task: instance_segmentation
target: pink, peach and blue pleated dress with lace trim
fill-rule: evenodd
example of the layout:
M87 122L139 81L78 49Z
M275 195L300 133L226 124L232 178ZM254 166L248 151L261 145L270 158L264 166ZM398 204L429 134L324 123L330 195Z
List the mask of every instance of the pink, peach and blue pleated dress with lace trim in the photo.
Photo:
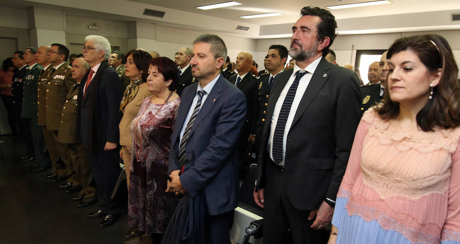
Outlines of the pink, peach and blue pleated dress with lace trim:
M460 127L397 134L371 108L332 224L340 243L460 243Z

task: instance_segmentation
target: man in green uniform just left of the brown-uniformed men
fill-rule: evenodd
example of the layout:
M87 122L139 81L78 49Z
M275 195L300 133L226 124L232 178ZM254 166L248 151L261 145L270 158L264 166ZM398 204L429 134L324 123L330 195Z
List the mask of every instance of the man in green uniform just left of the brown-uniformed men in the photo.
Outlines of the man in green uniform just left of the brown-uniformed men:
M35 160L38 167L48 169L51 168L51 161L45 153L43 133L37 123L37 83L38 78L43 71L43 67L37 63L37 60L35 59L36 53L36 48L29 47L26 48L24 55L22 55L24 61L29 65L29 70L26 72L22 82L23 94L21 118L25 119L29 123L32 143L35 150Z

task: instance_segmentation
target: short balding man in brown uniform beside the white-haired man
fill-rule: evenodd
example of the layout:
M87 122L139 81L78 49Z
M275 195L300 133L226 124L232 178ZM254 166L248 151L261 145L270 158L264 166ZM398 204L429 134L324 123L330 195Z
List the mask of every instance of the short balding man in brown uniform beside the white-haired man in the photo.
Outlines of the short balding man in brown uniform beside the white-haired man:
M76 79L77 83L68 92L65 99L58 134L58 141L65 145L73 165L74 180L72 186L68 187L66 192L80 191L77 197L72 198L74 201L80 201L79 208L86 207L97 200L96 188L89 186L91 167L86 156L86 149L81 144L81 139L76 132L78 87L80 86L81 78L89 68L89 64L83 58L77 58L73 62L72 78Z

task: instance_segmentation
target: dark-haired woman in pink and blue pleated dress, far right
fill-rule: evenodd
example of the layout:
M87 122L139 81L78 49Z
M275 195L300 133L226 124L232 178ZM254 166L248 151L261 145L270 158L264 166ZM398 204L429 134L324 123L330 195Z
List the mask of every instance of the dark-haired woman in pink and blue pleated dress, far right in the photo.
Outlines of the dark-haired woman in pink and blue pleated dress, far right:
M329 243L460 243L458 69L439 35L389 48L383 103L364 113Z

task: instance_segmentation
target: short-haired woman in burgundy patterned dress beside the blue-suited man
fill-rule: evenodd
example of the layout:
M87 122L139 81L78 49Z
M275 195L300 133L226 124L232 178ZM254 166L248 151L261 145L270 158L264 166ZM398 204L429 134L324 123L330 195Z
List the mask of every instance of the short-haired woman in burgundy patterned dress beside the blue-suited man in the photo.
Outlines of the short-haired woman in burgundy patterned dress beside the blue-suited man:
M131 122L128 226L138 227L131 237L145 233L152 236L154 243L159 243L177 204L175 195L165 192L170 137L180 103L174 92L177 80L174 61L154 58L147 77L148 90L153 95L144 100Z

